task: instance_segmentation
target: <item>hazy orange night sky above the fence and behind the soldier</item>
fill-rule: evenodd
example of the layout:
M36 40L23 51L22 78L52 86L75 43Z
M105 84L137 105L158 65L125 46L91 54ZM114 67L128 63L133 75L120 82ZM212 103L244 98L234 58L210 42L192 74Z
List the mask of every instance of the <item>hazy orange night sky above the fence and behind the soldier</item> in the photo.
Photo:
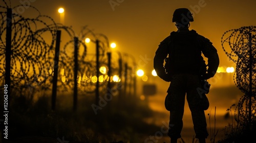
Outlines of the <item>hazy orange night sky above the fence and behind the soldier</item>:
M60 21L57 9L63 7L65 25L72 26L77 34L83 26L88 25L95 33L102 33L110 42L116 42L118 51L132 54L138 61L141 57L148 58L146 64L140 65L149 70L146 74L150 74L153 69L153 58L159 42L170 32L176 31L172 15L177 8L188 8L194 13L195 21L191 22L190 29L211 40L219 52L220 66L230 64L221 46L223 33L256 23L256 1L253 0L27 1L42 15L49 15L56 22ZM11 4L13 7L21 3L12 1ZM31 14L27 11L24 15Z

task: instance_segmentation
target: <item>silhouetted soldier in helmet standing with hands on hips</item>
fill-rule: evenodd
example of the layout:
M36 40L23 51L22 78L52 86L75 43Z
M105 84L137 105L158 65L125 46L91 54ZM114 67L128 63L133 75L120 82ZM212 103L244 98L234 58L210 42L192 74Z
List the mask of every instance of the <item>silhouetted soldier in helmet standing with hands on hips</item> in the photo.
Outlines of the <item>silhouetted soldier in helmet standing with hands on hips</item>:
M216 74L219 56L210 40L195 30L189 30L189 22L192 21L194 18L188 9L176 9L173 22L178 30L171 32L160 42L154 57L157 75L170 82L165 108L170 112L168 136L171 143L177 142L181 137L185 96L191 111L196 138L202 143L209 135L204 113L209 107L205 96L209 91L206 80ZM207 65L202 53L207 58Z

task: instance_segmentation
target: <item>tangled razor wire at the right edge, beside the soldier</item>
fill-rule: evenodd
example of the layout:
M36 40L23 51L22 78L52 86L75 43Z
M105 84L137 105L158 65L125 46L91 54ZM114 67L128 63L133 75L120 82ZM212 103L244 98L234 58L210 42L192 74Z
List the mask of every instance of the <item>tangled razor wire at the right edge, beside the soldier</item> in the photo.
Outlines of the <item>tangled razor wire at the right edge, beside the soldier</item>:
M221 38L228 58L236 63L235 85L245 93L236 107L236 121L256 121L256 27L248 26L226 31ZM251 55L250 55L251 53ZM250 67L251 65L251 67ZM251 82L250 82L251 74ZM251 91L250 91L251 87ZM250 102L249 102L250 101ZM251 116L249 116L251 114ZM248 125L248 124L247 124Z

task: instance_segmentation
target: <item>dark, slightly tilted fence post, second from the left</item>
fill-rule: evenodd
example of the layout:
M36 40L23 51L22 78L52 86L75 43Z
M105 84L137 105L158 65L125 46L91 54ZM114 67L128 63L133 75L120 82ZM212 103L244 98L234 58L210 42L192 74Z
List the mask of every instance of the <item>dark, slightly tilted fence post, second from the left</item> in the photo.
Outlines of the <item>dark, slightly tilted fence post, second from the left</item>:
M53 84L52 84L52 110L53 111L55 110L55 106L56 106L60 34L61 34L61 31L57 30L56 43L55 43L55 56L54 56Z

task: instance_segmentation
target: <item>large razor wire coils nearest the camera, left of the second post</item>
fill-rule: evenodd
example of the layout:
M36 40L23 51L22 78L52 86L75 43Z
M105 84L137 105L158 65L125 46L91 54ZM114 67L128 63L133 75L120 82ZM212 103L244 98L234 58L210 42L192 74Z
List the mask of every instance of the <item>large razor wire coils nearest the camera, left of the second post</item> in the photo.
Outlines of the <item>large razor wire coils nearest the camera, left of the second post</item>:
M31 8L38 11L36 8ZM14 7L15 8L15 7ZM39 11L38 11L39 13ZM1 12L1 43L0 43L0 56L1 56L1 75L5 75L5 27L7 12ZM11 84L14 90L29 86L33 87L31 81L35 81L35 75L44 75L41 83L48 79L49 72L46 71L46 65L50 64L48 60L53 55L53 44L56 39L56 26L49 25L42 19L49 19L54 23L54 20L46 15L39 15L36 18L25 18L19 14L12 13L12 53L11 53ZM37 25L42 25L44 28L39 29ZM54 27L53 27L54 26ZM51 37L50 44L46 42L43 34Z

